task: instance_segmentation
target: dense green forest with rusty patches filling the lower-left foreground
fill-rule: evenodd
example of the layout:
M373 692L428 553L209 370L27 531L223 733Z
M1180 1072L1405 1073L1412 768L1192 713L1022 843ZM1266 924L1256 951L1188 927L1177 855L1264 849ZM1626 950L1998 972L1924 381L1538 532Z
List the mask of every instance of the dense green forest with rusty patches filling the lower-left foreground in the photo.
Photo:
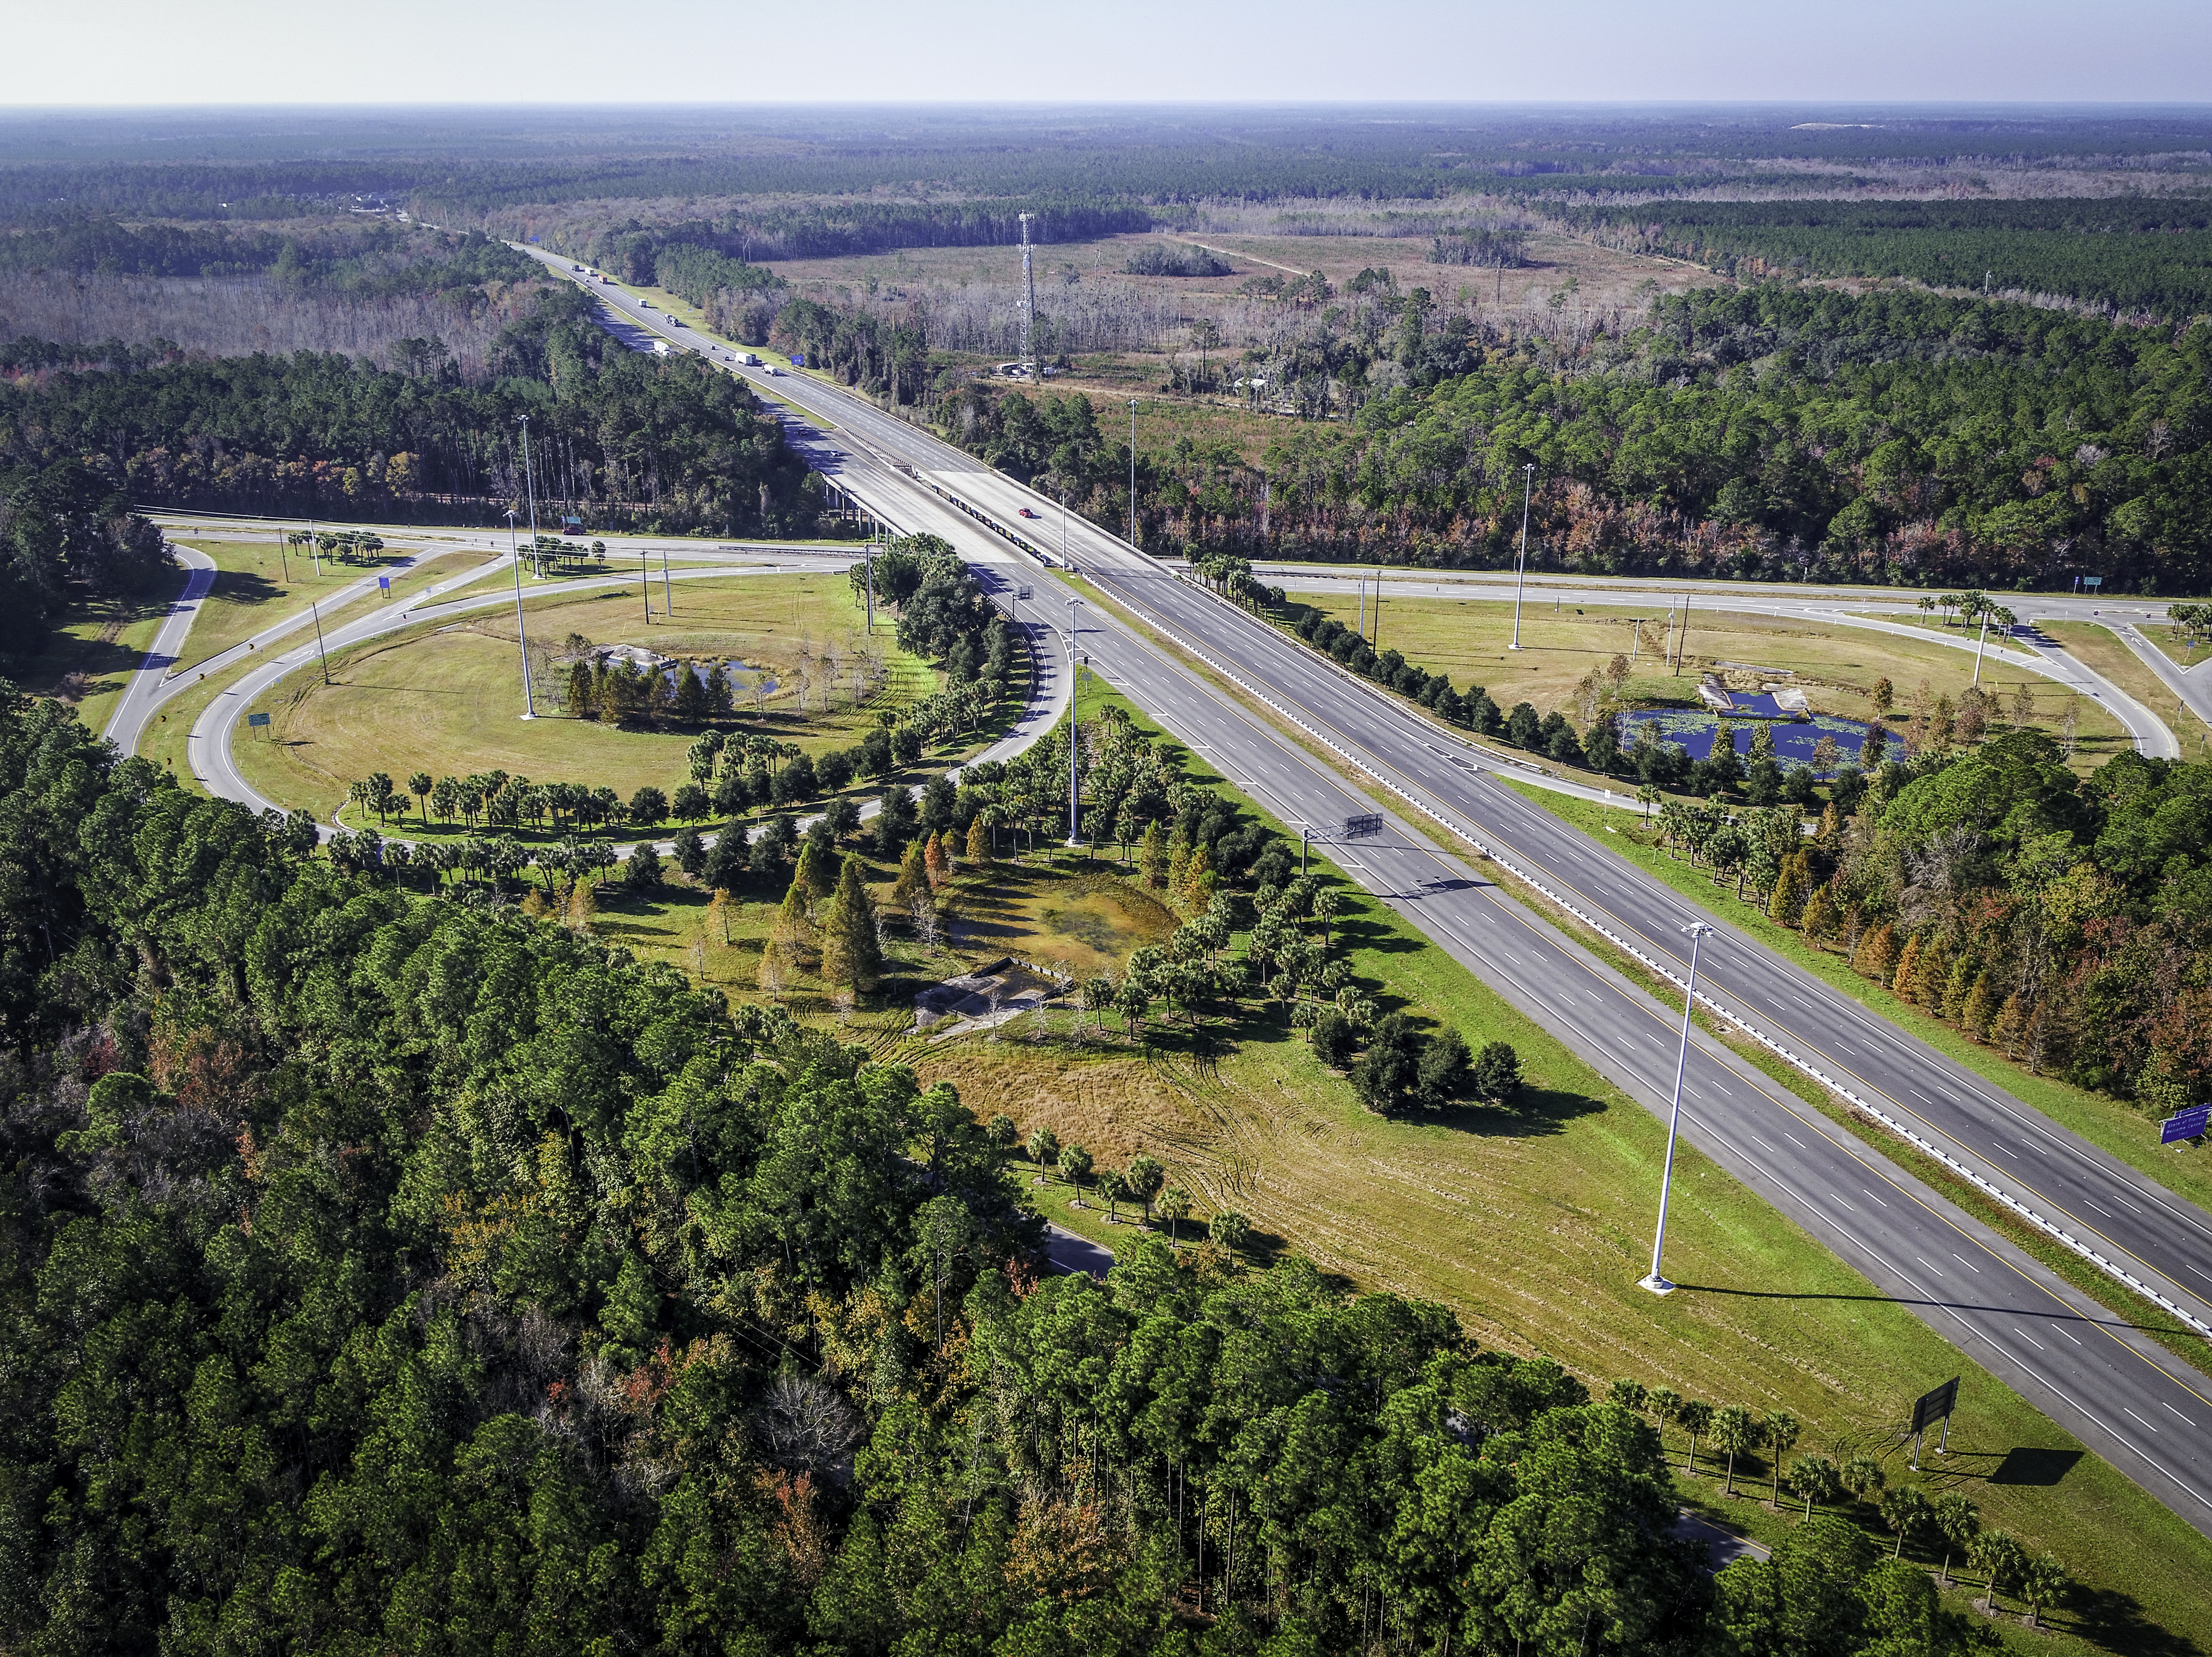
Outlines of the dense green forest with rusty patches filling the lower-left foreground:
M1040 1279L949 1086L51 704L0 783L9 1648L1962 1648L1856 1531L1714 1593L1641 1387L1298 1261Z

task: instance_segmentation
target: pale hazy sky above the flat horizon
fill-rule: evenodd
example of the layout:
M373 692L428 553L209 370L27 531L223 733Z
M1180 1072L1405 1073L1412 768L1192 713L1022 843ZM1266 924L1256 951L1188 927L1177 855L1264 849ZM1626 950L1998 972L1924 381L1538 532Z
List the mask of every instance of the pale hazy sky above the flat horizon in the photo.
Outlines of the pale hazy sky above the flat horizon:
M2212 0L102 0L9 104L2212 102Z

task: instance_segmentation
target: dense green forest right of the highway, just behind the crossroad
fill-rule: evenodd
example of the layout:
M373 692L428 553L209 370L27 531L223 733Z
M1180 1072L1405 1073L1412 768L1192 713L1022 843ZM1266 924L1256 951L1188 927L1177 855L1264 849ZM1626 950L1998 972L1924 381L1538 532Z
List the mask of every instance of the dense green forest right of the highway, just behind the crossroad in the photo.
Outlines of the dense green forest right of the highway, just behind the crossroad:
M1400 308L1409 383L1347 423L1290 427L1259 467L1188 440L1150 456L1146 538L1502 566L1535 465L1531 562L1548 569L2212 584L2208 323L1783 283L1659 299L1573 358L1451 321ZM1011 449L1018 394L973 396L984 411L951 405L947 429ZM1097 489L1082 498L1113 522Z

